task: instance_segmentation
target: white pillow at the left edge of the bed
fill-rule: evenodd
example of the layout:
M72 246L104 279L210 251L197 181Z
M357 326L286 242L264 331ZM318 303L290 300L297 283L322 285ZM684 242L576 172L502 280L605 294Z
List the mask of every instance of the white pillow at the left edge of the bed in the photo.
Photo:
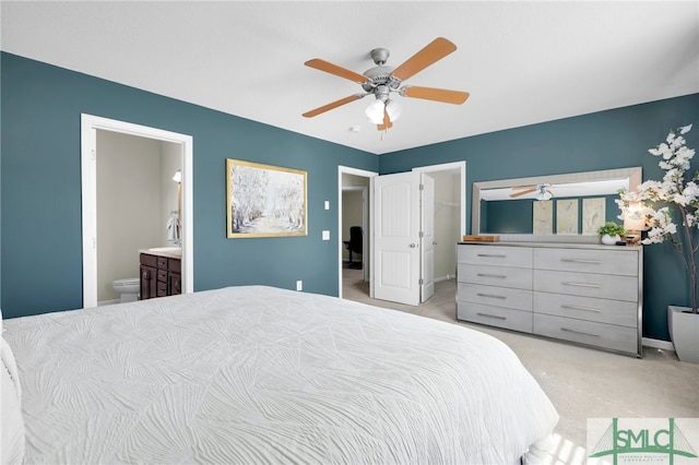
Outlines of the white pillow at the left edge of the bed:
M12 349L4 338L0 339L0 463L21 464L24 462L25 451L22 386Z

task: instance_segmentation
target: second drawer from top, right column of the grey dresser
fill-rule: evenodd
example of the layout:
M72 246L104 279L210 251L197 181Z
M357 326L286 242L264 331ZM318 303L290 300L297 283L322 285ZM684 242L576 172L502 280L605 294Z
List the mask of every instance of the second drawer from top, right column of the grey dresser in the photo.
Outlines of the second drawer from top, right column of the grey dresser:
M638 278L534 270L534 290L636 302L638 301Z

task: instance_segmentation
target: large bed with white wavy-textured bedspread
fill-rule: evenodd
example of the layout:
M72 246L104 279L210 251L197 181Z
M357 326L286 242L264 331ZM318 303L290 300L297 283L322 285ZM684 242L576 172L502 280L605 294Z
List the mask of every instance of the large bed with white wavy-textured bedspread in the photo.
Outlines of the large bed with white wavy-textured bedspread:
M268 286L16 318L2 335L8 462L510 464L558 420L491 336Z

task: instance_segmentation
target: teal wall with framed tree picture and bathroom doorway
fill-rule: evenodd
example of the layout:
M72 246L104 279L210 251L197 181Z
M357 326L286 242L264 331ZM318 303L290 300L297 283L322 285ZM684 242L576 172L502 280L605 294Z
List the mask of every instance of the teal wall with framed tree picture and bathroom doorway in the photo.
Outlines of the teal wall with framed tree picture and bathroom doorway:
M376 155L10 53L0 64L5 318L82 307L83 112L193 138L196 290L303 279L304 290L337 295L336 241L321 240L323 229L340 234L337 166L378 171ZM226 158L307 170L308 236L227 239Z

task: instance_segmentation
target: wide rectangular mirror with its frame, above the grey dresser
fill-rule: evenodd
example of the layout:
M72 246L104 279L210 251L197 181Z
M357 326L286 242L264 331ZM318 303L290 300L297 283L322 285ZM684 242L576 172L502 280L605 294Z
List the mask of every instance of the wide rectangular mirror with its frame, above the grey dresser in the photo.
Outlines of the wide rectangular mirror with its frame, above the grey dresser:
M474 182L471 230L500 240L597 241L599 226L620 223L618 190L640 183L640 167Z

